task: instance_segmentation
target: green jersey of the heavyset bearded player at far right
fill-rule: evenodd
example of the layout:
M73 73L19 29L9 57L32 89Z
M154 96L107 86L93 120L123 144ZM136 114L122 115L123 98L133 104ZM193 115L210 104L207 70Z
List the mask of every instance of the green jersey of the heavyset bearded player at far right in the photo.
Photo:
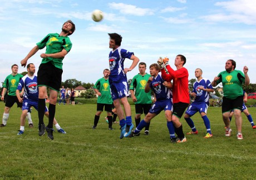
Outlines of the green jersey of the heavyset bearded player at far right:
M245 78L244 74L240 70L233 70L228 73L227 71L222 71L219 73L217 84L222 83L224 97L228 99L235 99L238 96L243 96L243 88Z

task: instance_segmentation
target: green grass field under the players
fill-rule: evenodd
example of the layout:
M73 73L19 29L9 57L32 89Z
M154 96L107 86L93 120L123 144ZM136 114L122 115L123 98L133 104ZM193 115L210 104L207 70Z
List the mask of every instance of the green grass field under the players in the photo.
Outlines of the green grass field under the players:
M15 105L16 106L16 105ZM67 132L55 132L55 140L38 136L34 128L18 136L21 110L12 107L6 127L0 128L0 179L255 179L256 130L243 114L244 140L237 140L234 118L232 136L225 137L220 107L209 107L213 138L199 114L193 116L198 135L185 143L170 143L164 113L151 121L150 135L119 139L119 125L108 130L102 112L92 130L96 104L57 105L56 119ZM132 116L135 115L135 107ZM1 116L4 103L0 102ZM256 121L255 107L249 108ZM45 119L47 125L48 120ZM184 133L190 128L182 118Z

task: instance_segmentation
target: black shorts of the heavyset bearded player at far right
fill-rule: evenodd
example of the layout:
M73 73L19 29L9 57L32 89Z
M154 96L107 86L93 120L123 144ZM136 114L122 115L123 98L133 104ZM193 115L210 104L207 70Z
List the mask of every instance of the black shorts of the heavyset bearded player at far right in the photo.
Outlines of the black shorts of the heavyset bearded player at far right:
M243 96L238 96L235 99L228 99L227 97L223 97L222 101L222 113L232 111L234 109L238 109L242 111L243 109L243 102L244 102Z

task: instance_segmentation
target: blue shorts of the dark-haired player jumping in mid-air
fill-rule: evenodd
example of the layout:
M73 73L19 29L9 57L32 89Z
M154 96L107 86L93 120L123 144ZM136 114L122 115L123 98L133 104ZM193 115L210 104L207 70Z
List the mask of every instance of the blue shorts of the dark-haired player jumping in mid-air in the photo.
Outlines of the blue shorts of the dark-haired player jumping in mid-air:
M112 100L121 99L122 97L129 96L129 85L127 81L112 82L110 84L110 92Z

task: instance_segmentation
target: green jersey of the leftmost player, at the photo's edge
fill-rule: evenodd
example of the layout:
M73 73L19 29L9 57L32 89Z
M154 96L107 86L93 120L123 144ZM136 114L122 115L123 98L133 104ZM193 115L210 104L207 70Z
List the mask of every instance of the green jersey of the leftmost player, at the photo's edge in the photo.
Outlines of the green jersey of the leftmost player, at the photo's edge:
M9 96L16 96L16 90L19 85L19 81L22 79L23 75L16 74L16 75L8 75L6 77L6 80L4 80L3 88L6 88L8 90Z

